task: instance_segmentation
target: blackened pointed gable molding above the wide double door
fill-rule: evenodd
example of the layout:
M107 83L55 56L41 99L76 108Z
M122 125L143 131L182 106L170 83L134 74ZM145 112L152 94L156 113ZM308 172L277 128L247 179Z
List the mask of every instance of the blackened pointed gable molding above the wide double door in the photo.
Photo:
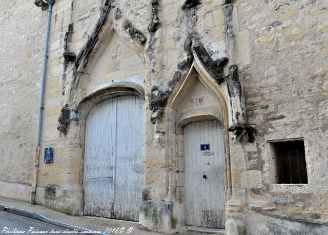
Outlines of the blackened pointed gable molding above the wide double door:
M122 17L117 20L113 11L111 11L112 8L114 7L106 4L100 8L100 15L91 35L79 50L76 59L66 66L65 104L76 106L76 101L83 99L82 93L88 83L89 75L114 35L117 35L121 42L130 47L139 56L142 64L146 64L146 58L142 53L144 45L131 38L129 30L125 29L127 19ZM129 26L133 27L132 25Z

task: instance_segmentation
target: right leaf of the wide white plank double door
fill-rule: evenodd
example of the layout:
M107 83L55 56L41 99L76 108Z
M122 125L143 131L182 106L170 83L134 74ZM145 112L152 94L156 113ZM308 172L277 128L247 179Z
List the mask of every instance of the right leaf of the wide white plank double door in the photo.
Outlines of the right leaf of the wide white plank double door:
M139 221L144 185L144 102L138 96L117 98L115 218Z

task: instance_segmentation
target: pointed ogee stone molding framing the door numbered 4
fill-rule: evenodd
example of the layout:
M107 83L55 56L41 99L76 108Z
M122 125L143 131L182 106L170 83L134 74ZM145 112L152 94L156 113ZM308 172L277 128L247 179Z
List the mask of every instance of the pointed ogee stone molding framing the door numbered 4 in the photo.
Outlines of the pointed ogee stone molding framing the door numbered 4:
M190 89L195 86L195 83L200 82L201 85L206 88L217 100L217 103L221 110L221 115L214 114L213 112L195 112L190 113L190 115L181 116L181 118L176 119L176 114L179 110L180 105L182 104L185 97L189 94ZM176 139L181 139L179 135L183 135L183 127L188 125L191 122L195 121L204 121L204 120L218 120L222 124L223 129L223 146L224 146L224 158L225 164L224 169L226 173L226 202L227 196L232 194L232 176L231 176L231 164L230 164L230 138L228 128L230 126L230 107L229 107L229 94L224 89L226 87L225 82L223 84L218 84L216 81L209 75L209 73L204 69L202 64L197 60L197 56L194 55L193 64L189 70L189 73L185 76L182 76L181 80L177 84L174 89L172 96L168 102L168 106L166 109L166 120L167 128L168 128L168 136L175 136ZM170 120L169 120L170 119ZM174 122L174 124L170 124ZM173 129L174 128L174 129ZM169 139L167 139L167 143L169 143ZM167 145L168 146L168 145ZM167 149L169 162L173 157L170 154L169 149ZM169 185L169 188L174 187L174 185Z

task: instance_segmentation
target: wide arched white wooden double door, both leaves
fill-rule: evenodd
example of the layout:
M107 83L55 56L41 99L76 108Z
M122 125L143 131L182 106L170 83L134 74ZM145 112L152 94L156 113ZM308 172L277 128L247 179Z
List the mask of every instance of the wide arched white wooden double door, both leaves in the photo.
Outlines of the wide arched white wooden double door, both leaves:
M144 184L144 101L127 95L101 102L86 121L84 213L139 220Z

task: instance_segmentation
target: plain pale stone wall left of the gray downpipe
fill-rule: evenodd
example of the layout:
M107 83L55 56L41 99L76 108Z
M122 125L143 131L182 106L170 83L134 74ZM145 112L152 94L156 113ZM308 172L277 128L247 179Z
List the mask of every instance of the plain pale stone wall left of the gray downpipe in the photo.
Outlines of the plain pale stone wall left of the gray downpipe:
M46 12L24 1L0 5L0 196L29 201Z

